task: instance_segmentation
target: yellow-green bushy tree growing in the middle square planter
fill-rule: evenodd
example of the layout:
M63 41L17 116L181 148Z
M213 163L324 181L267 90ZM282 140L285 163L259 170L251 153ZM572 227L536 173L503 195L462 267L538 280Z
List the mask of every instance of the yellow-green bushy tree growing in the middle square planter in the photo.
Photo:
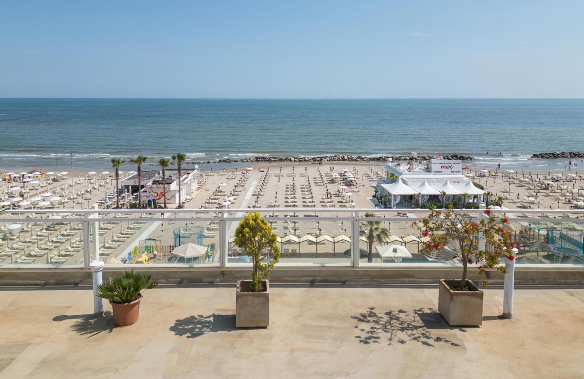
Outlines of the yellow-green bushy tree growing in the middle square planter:
M270 277L270 271L280 260L276 233L272 233L269 223L258 212L249 212L235 229L235 246L243 249L243 254L251 258L253 269L249 287L252 291L260 292L262 280ZM270 254L272 259L262 263Z

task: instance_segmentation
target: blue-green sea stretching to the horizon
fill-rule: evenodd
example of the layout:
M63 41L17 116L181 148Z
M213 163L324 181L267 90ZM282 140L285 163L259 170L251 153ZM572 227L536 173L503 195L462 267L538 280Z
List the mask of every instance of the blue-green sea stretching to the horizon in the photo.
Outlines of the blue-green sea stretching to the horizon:
M583 142L584 99L0 99L0 168L463 153L477 168L555 171L568 160L531 154Z

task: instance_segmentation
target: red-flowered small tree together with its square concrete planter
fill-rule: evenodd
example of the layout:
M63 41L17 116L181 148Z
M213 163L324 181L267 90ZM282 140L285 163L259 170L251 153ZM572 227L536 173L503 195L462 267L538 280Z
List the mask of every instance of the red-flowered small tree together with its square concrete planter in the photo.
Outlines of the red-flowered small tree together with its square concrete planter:
M476 264L479 274L493 268L505 274L500 260L514 259L510 235L503 228L509 219L496 220L491 209L485 209L484 215L472 219L468 213L452 208L444 211L432 208L426 218L414 223L426 237L420 250L422 256L440 257L440 251L449 246L455 251L453 259L458 258L463 264L460 280L440 280L438 311L450 325L482 324L483 292L467 279L468 265ZM482 284L486 285L487 280Z

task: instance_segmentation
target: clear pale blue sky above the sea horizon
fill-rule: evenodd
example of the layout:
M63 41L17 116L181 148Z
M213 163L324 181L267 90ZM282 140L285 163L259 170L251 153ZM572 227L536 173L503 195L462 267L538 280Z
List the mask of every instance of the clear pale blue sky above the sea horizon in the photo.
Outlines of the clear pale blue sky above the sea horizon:
M583 98L584 2L3 1L0 97Z

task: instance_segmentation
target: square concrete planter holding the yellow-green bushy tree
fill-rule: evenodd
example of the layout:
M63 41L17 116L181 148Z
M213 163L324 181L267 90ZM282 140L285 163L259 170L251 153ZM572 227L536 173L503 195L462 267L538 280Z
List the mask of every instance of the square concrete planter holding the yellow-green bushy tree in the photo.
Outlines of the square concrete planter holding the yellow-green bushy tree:
M237 282L235 292L235 327L259 328L270 323L270 283L262 280L263 291L252 292L251 280Z

